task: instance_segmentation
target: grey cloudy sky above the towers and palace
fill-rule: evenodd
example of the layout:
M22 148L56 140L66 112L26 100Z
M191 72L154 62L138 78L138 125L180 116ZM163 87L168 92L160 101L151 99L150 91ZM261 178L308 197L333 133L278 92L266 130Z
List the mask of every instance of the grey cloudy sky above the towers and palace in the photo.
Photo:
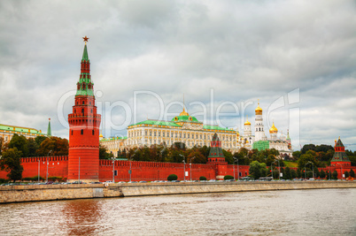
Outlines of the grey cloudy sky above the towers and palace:
M104 136L182 111L356 149L355 1L1 1L0 124L68 136L84 43ZM266 133L269 135L268 133Z

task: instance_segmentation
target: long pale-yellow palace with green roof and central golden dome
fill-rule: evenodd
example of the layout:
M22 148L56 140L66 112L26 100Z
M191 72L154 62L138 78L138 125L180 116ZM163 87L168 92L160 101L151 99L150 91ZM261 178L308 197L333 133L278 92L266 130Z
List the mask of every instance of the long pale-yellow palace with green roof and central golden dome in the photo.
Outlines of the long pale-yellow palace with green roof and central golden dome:
M238 131L220 126L208 126L183 109L179 116L171 121L145 120L128 126L128 137L104 139L100 135L100 144L118 156L124 148L136 148L144 145L163 144L171 146L174 142L182 142L187 148L194 146L210 147L213 134L217 133L221 140L221 148L237 150L240 148Z

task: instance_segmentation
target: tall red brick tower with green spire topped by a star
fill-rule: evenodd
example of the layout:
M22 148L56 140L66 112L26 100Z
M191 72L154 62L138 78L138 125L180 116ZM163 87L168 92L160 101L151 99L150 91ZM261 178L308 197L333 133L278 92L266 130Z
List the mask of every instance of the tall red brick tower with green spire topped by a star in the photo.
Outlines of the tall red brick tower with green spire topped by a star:
M87 36L81 58L81 76L73 113L68 115L69 154L68 180L99 179L99 126L101 116L95 105L94 83L90 76L90 62L87 51Z

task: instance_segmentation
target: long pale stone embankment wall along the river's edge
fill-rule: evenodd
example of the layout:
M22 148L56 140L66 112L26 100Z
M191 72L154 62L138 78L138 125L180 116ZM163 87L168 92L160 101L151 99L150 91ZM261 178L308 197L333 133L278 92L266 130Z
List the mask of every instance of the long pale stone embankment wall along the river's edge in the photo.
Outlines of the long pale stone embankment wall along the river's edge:
M110 184L106 187L104 184L1 186L0 203L164 194L205 194L354 187L356 187L356 181L126 183Z

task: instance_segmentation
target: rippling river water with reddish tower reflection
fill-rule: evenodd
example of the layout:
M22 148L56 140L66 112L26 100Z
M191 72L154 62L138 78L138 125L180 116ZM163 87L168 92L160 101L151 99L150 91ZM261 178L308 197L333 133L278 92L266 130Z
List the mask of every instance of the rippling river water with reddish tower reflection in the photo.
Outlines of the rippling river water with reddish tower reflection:
M356 189L0 205L1 235L356 235Z

